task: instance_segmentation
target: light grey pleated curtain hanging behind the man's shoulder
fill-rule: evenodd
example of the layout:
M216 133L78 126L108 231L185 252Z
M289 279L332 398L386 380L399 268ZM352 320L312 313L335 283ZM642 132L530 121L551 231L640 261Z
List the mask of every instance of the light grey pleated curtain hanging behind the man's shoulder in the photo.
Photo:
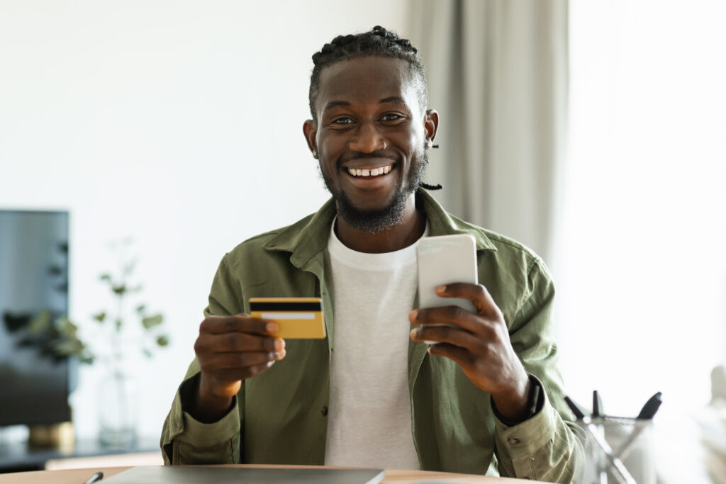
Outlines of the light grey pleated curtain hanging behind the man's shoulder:
M552 255L566 147L566 0L412 0L441 128L426 180L452 213Z

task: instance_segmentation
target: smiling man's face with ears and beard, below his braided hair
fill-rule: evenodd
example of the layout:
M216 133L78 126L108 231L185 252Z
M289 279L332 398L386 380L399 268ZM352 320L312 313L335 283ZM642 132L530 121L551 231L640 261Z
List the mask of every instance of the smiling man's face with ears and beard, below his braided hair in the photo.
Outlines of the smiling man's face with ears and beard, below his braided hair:
M318 118L306 122L305 133L339 216L361 231L393 226L413 202L426 138L436 132L407 62L337 62L322 71L318 92Z

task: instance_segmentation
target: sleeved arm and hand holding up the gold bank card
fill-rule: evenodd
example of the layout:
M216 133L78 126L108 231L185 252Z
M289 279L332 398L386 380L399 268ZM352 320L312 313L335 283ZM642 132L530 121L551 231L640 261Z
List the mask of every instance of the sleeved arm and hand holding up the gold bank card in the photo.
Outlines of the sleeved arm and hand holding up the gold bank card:
M241 290L223 259L212 284L205 320L195 343L197 358L176 392L164 422L166 464L238 464L243 380L285 356L285 343L269 321L242 311Z

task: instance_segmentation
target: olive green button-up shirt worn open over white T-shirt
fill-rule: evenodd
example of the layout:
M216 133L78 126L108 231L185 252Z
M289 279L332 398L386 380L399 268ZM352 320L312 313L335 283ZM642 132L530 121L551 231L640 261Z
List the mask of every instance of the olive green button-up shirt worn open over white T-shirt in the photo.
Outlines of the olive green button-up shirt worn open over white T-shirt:
M576 482L584 467L584 435L568 422L552 335L555 289L542 259L518 242L450 216L426 192L417 193L417 205L425 210L431 236L475 237L479 282L504 314L526 372L544 388L541 409L509 427L494 414L489 393L460 366L409 340L411 432L421 469ZM249 313L250 298L316 296L322 298L327 337L287 340L285 358L245 380L233 408L211 424L184 411L199 372L192 361L164 422L167 464L325 464L335 332L327 238L335 213L329 200L314 215L242 242L224 256L205 316Z

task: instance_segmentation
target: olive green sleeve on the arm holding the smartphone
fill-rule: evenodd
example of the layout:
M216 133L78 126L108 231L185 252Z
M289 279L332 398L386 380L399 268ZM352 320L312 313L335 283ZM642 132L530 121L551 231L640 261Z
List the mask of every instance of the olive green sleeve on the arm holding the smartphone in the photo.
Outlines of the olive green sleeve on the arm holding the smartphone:
M541 385L542 407L524 422L507 425L495 415L494 446L502 476L552 483L580 482L584 431L571 422L557 369L552 329L555 288L540 259L529 270L527 291L510 324L510 340L526 372Z

